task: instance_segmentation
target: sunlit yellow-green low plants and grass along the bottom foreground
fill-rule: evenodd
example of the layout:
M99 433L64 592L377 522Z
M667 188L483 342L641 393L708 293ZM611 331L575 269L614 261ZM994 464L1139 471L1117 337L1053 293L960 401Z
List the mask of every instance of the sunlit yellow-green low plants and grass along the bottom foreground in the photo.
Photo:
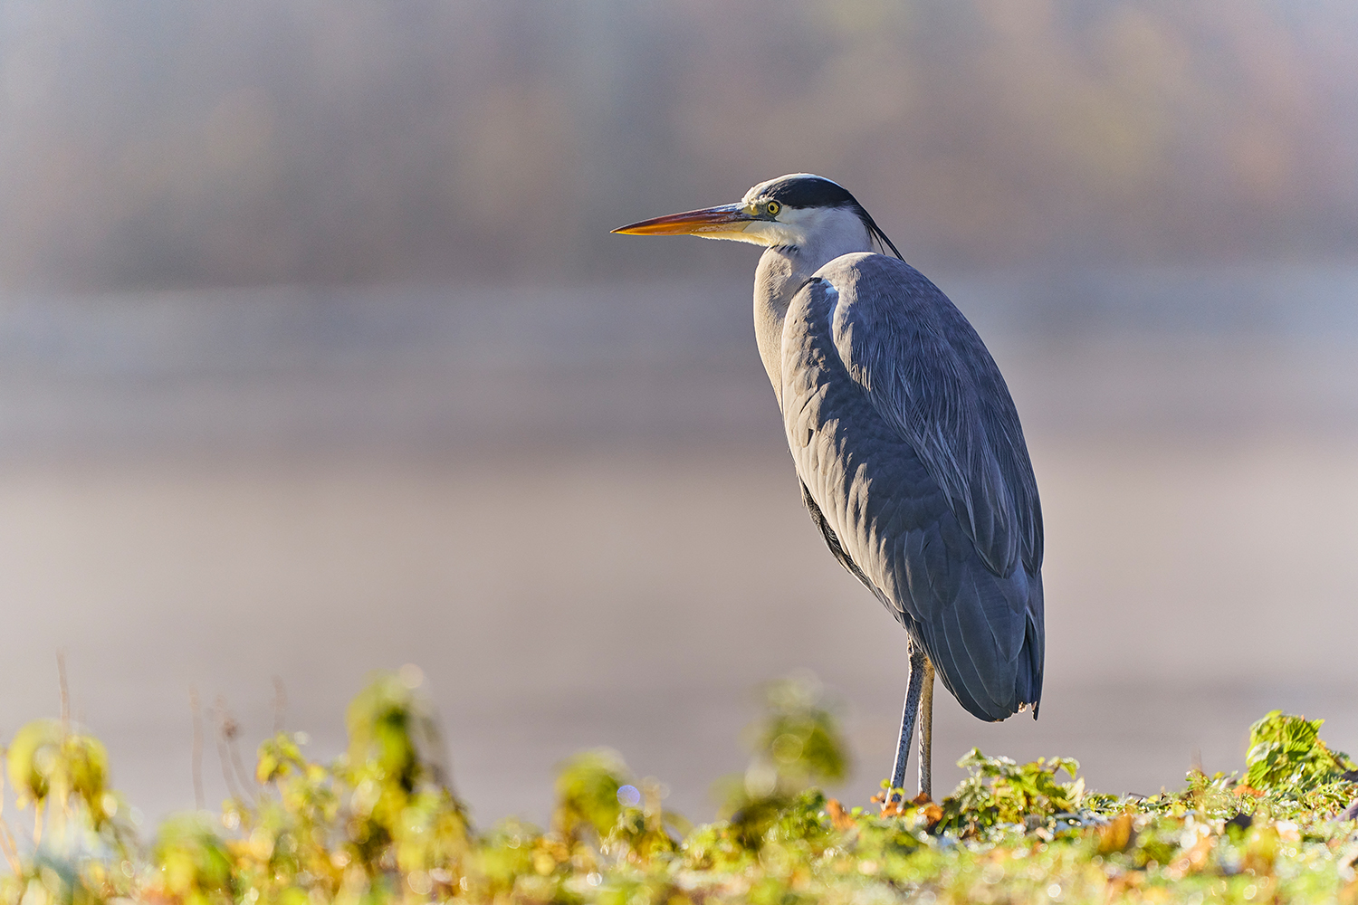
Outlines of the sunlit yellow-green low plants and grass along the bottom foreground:
M23 813L0 814L0 904L1358 902L1344 818L1358 773L1320 720L1274 711L1251 727L1244 780L1192 772L1150 798L1090 792L1070 758L972 749L941 802L846 809L816 787L847 771L819 687L784 680L766 699L717 822L691 828L659 783L595 750L561 765L549 830L478 830L439 764L428 701L379 676L335 763L276 735L259 746L258 794L174 817L149 845L107 787L103 746L39 720L4 757Z

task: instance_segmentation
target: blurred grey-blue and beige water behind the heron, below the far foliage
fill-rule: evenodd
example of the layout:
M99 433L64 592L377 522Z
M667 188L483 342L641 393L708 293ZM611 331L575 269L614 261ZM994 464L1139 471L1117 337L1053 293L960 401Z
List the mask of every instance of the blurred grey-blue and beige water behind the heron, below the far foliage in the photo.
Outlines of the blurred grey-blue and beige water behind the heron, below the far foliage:
M1009 379L1048 531L1042 719L937 746L1099 788L1237 768L1271 707L1358 748L1358 270L941 281ZM0 308L0 735L76 714L191 805L189 688L338 750L420 663L482 820L612 745L710 815L751 688L837 689L865 799L904 638L801 512L744 284L272 289ZM209 750L209 799L224 794ZM956 779L941 772L940 783Z

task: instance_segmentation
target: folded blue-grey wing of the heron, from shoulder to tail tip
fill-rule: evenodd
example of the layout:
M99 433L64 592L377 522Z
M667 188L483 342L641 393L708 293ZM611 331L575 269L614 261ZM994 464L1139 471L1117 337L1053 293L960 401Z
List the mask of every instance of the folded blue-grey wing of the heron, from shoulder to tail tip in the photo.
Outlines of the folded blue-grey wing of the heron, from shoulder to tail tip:
M812 518L957 700L1042 695L1042 513L985 346L915 270L846 255L793 299L782 404Z

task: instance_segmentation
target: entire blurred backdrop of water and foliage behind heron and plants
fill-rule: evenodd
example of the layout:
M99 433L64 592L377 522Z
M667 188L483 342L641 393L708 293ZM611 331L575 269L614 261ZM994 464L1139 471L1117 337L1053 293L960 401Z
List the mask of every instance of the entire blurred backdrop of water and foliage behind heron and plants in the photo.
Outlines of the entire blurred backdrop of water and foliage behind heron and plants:
M809 668L865 803L906 638L801 509L758 252L608 235L813 171L972 319L1042 488L1042 719L941 695L937 788L972 745L1176 787L1274 707L1353 750L1355 73L1347 0L5 3L0 738L64 651L158 815L191 692L327 757L416 663L479 822L595 745L706 820Z

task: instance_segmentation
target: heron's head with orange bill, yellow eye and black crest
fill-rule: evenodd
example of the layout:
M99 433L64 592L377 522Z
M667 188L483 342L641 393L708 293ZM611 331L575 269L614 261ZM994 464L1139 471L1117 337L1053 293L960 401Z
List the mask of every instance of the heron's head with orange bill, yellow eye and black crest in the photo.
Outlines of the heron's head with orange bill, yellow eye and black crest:
M870 250L876 240L883 251L891 248L892 254L900 256L847 189L809 172L793 172L760 182L733 205L642 220L618 227L614 232L638 236L694 235L799 248L830 242L861 244L862 250Z

